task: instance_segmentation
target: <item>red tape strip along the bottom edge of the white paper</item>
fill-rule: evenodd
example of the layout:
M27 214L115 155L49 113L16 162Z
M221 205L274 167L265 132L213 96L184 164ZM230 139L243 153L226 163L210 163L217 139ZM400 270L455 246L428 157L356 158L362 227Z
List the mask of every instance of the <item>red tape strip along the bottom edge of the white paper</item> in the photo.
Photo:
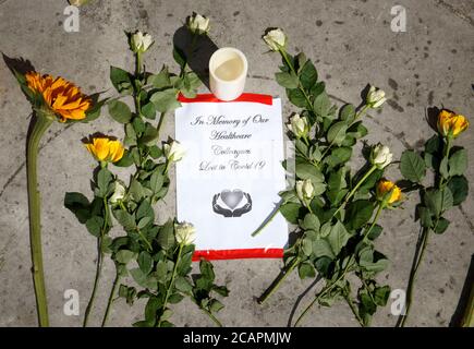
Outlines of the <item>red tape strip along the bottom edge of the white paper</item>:
M200 258L216 261L282 257L283 249L199 250L194 252L193 262L199 261Z

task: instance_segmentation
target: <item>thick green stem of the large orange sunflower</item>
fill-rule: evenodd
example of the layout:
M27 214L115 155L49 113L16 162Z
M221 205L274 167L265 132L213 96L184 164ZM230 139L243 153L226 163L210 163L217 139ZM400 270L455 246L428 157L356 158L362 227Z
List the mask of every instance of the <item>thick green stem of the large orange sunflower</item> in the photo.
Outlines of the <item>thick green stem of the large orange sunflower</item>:
M45 116L36 115L32 122L35 122L28 136L26 148L26 167L27 167L27 188L28 188L28 210L29 210L29 244L32 253L32 273L33 284L36 296L36 310L38 324L40 327L49 326L48 302L46 299L45 273L42 268L41 251L41 200L38 190L37 180L37 155L41 136L48 130L52 120Z

